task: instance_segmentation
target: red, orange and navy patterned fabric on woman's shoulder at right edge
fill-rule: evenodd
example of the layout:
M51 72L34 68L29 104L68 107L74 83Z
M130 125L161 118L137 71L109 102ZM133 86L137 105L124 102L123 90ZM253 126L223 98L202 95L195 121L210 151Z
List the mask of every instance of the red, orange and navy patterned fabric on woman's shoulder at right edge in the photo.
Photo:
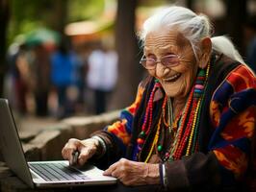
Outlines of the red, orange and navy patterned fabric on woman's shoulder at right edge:
M255 132L255 99L246 97L256 91L256 80L244 65L235 68L218 86L211 102L210 114L218 135L211 148L223 168L236 178L246 170L246 150ZM246 95L247 94L247 95ZM250 95L255 95L250 94Z

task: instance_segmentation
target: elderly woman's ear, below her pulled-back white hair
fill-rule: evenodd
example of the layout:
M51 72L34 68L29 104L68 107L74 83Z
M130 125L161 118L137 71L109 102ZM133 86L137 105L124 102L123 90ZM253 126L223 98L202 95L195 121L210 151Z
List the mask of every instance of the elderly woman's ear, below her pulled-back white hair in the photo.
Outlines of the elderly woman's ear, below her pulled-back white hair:
M200 42L201 57L199 58L199 67L205 68L211 58L212 41L210 37L204 37Z

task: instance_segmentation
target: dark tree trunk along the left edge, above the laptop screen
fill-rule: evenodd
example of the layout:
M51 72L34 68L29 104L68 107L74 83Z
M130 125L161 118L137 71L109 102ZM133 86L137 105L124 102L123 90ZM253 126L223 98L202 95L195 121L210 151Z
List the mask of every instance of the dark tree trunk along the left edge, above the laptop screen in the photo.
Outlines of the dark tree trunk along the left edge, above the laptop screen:
M0 97L3 97L4 92L9 11L9 0L0 0Z

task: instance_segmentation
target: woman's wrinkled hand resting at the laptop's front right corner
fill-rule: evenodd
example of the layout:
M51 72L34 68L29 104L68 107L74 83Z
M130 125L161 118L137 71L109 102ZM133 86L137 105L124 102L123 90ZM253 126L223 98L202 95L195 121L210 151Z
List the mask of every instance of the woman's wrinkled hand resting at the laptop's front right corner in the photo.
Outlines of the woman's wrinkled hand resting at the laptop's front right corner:
M136 162L121 158L104 173L113 176L125 185L144 185L160 183L159 165Z

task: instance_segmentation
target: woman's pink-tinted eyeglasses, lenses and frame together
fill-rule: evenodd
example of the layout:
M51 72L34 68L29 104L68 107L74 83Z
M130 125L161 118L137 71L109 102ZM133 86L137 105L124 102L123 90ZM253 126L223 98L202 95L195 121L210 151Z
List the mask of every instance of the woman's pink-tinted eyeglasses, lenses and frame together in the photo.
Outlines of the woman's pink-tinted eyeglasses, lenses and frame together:
M173 67L177 66L180 63L181 58L177 55L167 55L162 57L160 60L155 60L152 58L145 58L143 56L140 60L140 63L145 67L146 69L155 69L157 63L161 62L163 65L167 67Z

